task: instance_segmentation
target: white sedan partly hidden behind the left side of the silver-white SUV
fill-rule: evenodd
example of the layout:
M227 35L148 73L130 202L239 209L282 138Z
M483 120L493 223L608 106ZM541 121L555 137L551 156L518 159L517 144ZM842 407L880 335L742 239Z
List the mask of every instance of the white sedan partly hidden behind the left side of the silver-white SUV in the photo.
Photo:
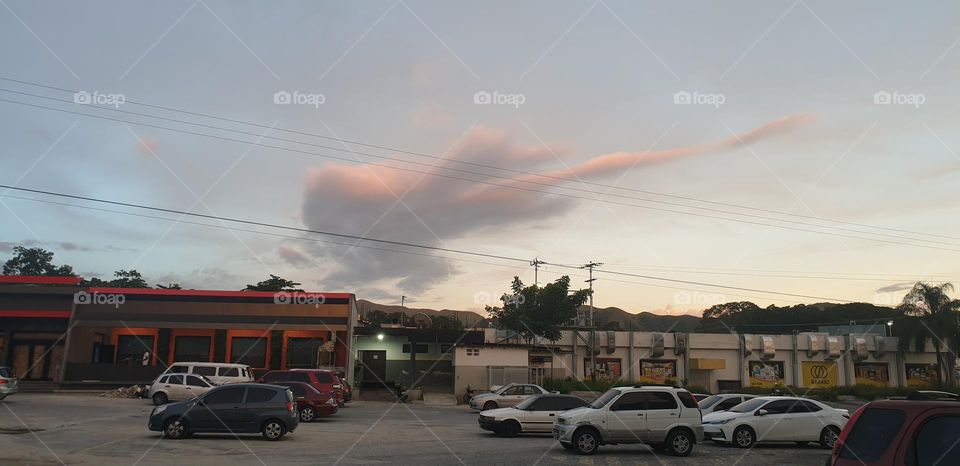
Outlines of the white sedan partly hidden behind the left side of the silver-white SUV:
M534 395L509 408L480 413L480 428L501 437L516 437L523 432L550 432L557 416L571 409L586 406L583 398L570 395Z

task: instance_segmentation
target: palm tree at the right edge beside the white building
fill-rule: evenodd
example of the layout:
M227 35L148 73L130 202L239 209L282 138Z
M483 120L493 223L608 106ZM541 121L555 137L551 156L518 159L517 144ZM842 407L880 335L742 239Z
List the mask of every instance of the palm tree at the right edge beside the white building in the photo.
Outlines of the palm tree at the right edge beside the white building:
M953 292L953 285L950 283L931 285L917 282L903 297L903 303L897 307L904 315L896 327L897 336L900 337L900 351L909 349L912 341L914 350L921 352L926 346L927 338L932 338L937 353L937 384L941 386L944 372L951 384L954 378L953 365L949 364L953 358L943 354L943 346L945 342L956 338L960 330L957 320L960 300L950 299L950 292ZM947 350L950 350L950 345L947 345Z

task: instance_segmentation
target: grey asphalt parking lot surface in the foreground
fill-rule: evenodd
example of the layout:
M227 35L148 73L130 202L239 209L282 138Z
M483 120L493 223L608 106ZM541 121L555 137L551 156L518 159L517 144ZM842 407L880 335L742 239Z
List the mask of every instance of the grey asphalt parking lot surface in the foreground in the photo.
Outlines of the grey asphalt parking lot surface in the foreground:
M335 416L301 424L280 442L259 436L197 435L163 440L147 430L147 400L90 394L18 394L0 402L0 464L724 464L820 465L817 446L752 450L698 444L674 458L637 445L604 446L590 457L549 435L498 438L466 408L355 401Z

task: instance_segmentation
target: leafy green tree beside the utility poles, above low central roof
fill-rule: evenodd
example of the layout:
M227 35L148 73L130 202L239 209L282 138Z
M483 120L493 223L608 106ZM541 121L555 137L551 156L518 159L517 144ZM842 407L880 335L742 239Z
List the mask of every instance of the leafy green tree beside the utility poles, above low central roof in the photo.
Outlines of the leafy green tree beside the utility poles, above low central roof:
M569 293L570 277L566 275L543 288L525 287L519 277L513 277L510 289L512 294L500 297L503 307L486 306L486 311L497 328L512 330L526 341L536 337L559 340L561 327L577 316L577 308L590 296L590 290Z

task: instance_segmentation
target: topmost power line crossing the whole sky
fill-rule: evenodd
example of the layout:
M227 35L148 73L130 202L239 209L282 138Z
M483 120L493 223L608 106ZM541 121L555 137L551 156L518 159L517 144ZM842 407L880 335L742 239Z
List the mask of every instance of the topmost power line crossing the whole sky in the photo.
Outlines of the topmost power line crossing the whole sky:
M62 88L62 87L57 87L57 86L51 86L51 85L46 85L46 84L40 84L40 83L35 83L35 82L30 82L30 81L23 81L23 80L18 80L18 79L3 77L3 76L0 76L0 80L8 81L8 82L15 82L15 83L18 83L18 84L23 84L23 85L28 85L28 86L40 87L40 88L45 88L45 89L50 89L50 90L57 90L57 91L62 91L62 92L69 92L69 93L76 93L76 92L78 92L78 91L75 90L75 89L67 89L67 88ZM13 92L13 93L18 93L18 94L22 94L22 95L30 95L30 96L34 96L34 97L40 97L40 98L51 99L51 100L60 100L60 101L68 102L68 103L73 103L73 102L66 101L66 100L56 99L56 98L47 97L47 96L40 96L40 95L35 95L35 94L29 94L29 93L23 93L23 92L19 92L19 91L11 91L11 90L5 90L5 91L7 91L7 92ZM320 138L320 139L325 139L325 140L330 140L330 141L337 141L337 142L339 142L339 143L341 143L341 144L343 144L343 143L349 143L349 144L353 144L353 145L357 145L357 146L362 146L362 147L376 148L376 149L388 150L388 151L392 151L392 152L396 152L396 153L401 153L401 154L413 155L413 156L417 156L417 157L431 158L431 159L439 160L439 161L442 161L442 162L460 163L460 164L471 165L471 166L475 166L475 167L489 168L489 169L494 169L494 170L506 171L506 172L510 172L510 173L517 173L517 174L523 174L523 175L528 175L528 176L536 176L536 177L540 177L540 178L553 179L553 180L557 180L557 181L565 181L565 182L570 182L570 183L580 183L580 184L584 184L584 185L591 185L591 186L597 186L597 187L608 188L608 189L619 189L619 190L625 190L625 191L633 191L633 192L642 193L642 194L649 194L649 195L655 195L655 196L669 197L669 198L682 199L682 200L688 200L688 201L694 201L694 202L702 202L702 203L713 204L713 205L721 205L721 206L725 206L725 207L734 207L734 208L738 208L738 209L755 210L755 211L759 211L759 212L765 212L765 213L771 213L771 214L777 214L777 215L785 215L785 216L792 216L792 217L798 217L798 218L806 218L806 219L811 219L811 220L828 221L828 222L832 222L832 223L839 223L839 224L852 225L852 226L860 226L860 227L873 228L873 229L878 229L878 230L885 230L885 231L892 231L892 232L899 232L899 233L908 233L908 234L921 235L921 236L935 236L935 237L941 237L941 238L947 238L947 239L960 240L960 237L948 236L948 235L943 235L943 234L925 233L925 232L917 232L917 231L897 229L897 228L880 227L880 226L874 226L874 225L857 223L857 222L849 222L849 221L843 221L843 220L823 218L823 217L813 216L813 215L803 215L803 214L797 214L797 213L792 213L792 212L783 212L783 211L777 211L777 210L772 210L772 209L763 209L763 208L759 208L759 207L751 207L751 206L745 206L745 205L741 205L741 204L734 204L734 203L727 203L727 202L719 202L719 201L713 201L713 200L709 200L709 199L701 199L701 198L690 197L690 196L680 196L680 195L675 195L675 194L662 193L662 192L650 191L650 190L643 190L643 189L637 189L637 188L631 188L631 187L625 187L625 186L609 185L609 184L605 184L605 183L592 182L592 181L589 181L589 180L566 178L566 177L562 177L562 176L555 176L555 175L549 175L549 174L543 174L543 173L536 173L536 172L519 170L519 169L514 169L514 168L509 168L509 167L500 167L500 166L491 165L491 164L483 164L483 163L471 162L471 161L466 161L466 160L448 159L448 158L446 158L446 157L444 157L444 156L438 156L438 155L432 155L432 154L425 154L425 153L422 153L422 152L415 152L415 151L410 151L410 150L404 150L404 149L400 149L400 148L396 148L396 147L390 147L390 146L379 145L379 144L371 144L371 143L366 143L366 142L362 142L362 141L356 141L356 140L350 140L350 139L342 139L342 138L331 137L331 136L325 136L325 135L316 134L316 133L311 133L311 132L306 132L306 131L298 131L298 130L292 130L292 129L288 129L288 128L275 127L275 126L272 126L272 125L264 125L264 124L262 124L262 123L255 123L255 122L250 122L250 121L238 120L238 119L233 119L233 118L227 118L227 117L223 117L223 116L213 115L213 114L209 114L209 113L203 113L203 112L196 112L196 111L178 109L178 108L174 108L174 107L168 107L168 106L162 106L162 105L154 105L154 104L149 104L149 103L145 103L145 102L139 102L139 101L135 101L135 100L126 100L125 103L133 104L133 105L139 105L139 106L143 106L143 107L147 107L147 108L154 108L154 109L159 109L159 110L165 110L165 111L170 111L170 112L175 112L175 113L183 113L183 114L187 114L187 115L199 116L199 117L209 118L209 119L214 119L214 120L221 120L221 121L226 121L226 122L230 122L230 123L243 124L243 125L253 126L253 127L257 127L257 128L261 128L261 129L271 130L271 131L281 131L281 132L286 132L286 133L290 133L290 134L298 134L298 135L302 135L302 136L309 136L309 137L315 137L315 138ZM111 109L111 108L109 108L109 107L95 107L95 108L100 108L100 109L105 109L105 110L118 110L118 111L120 111L119 109ZM139 114L139 113L136 113L136 112L126 112L126 111L123 111L123 112L125 112L125 113L133 113L133 114L136 114L136 115L143 115L143 114ZM175 119L168 119L168 118L165 118L165 117L158 117L158 116L153 116L153 115L145 115L145 116L152 117L152 118L167 119L167 120L170 120L170 121L179 121L179 120L175 120ZM192 123L192 122L191 122L191 123L188 123L188 124L201 125L200 123ZM206 126L206 125L205 125L205 126ZM218 127L213 127L213 126L210 126L210 127L212 127L212 128L218 128ZM219 129L224 129L224 128L219 128ZM224 130L234 131L234 130L232 130L232 129L224 129ZM245 133L245 134L251 134L251 133ZM258 136L258 137L261 137L261 135L256 134L256 133L253 133L253 135ZM277 138L274 138L274 137L271 137L271 136L262 136L262 137L269 138L269 139L277 139ZM298 144L307 144L307 145L310 144L310 143L305 143L305 142L301 142L301 141L293 141L293 142L298 143ZM328 148L328 149L332 149L332 150L337 150L337 151L354 152L354 151L352 151L352 150L350 150L350 149L332 148L332 147L328 147L328 146L317 146L317 147L324 147L324 148ZM365 154L365 155L369 155L369 154ZM396 160L396 159L392 159L392 160ZM409 162L409 161L406 161L406 162L408 162L408 163L415 163L415 162ZM435 165L431 165L431 167L452 169L452 168L449 168L449 167L439 167L439 166L435 166ZM484 174L484 176L494 176L494 175ZM554 185L548 185L548 186L554 186ZM568 188L568 189L569 189L569 188ZM592 191L591 191L591 192L592 192ZM605 195L611 195L611 194L605 194ZM655 200L651 200L651 199L642 199L642 198L631 198L631 199L640 199L640 200L646 200L646 201L649 201L649 202L662 202L662 201L655 201ZM688 205L685 205L685 204L679 204L679 205L686 206L686 207L690 207L690 208L698 208L698 207L696 207L696 206L688 206ZM736 214L736 213L734 213L734 214ZM864 232L864 233L868 233L868 232ZM872 234L872 233L871 233L871 234Z

